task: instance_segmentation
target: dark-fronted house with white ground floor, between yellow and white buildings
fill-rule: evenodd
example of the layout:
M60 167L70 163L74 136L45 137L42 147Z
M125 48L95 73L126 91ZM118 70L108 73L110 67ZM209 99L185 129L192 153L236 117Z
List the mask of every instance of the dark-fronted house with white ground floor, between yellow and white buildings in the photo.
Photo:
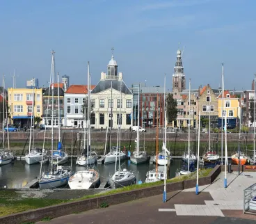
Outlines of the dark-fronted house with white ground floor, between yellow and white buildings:
M51 84L52 85L52 84ZM59 88L58 88L59 86ZM54 93L54 97L52 97ZM60 116L58 116L58 93L60 99ZM52 122L52 107L54 107L54 119ZM45 90L42 95L42 124L45 127L58 127L58 125L63 125L64 122L64 90L63 83L54 83L54 90L51 86Z

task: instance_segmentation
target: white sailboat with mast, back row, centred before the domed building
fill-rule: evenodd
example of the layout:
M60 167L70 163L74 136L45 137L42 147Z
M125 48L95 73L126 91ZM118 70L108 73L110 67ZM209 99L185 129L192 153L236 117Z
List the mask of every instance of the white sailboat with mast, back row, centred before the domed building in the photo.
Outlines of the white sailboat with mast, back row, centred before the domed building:
M120 89L120 94L121 94L121 89ZM112 81L111 81L111 102L112 102ZM118 157L118 160L124 160L126 158L126 154L122 151L118 151L118 147L115 148L115 146L111 147L111 135L112 135L112 118L113 118L113 106L111 105L111 127L110 127L110 135L109 135L109 150L110 152L108 154L105 154L104 159L103 159L103 163L107 164L107 163L115 163L115 158ZM107 130L108 131L108 130ZM107 132L106 131L106 132ZM106 134L106 138L107 138L107 134ZM106 152L106 148L105 148L105 152Z

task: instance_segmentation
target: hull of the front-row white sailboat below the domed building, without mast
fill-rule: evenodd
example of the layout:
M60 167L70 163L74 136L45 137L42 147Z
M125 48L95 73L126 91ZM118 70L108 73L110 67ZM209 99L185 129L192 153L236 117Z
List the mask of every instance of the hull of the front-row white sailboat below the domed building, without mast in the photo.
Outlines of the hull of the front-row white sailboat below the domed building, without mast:
M123 186L130 186L132 184L136 184L136 177L134 173L128 171L127 169L123 169L122 171L118 170L109 179L109 185L112 189L120 188Z

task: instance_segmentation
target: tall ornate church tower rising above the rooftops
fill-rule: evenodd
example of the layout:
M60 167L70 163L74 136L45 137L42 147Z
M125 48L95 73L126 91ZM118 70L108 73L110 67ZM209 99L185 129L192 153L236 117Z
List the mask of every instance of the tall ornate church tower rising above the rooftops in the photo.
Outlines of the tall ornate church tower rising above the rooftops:
M173 90L177 89L179 92L186 89L186 78L184 75L184 67L182 65L182 51L177 50L177 61L174 67L173 74Z

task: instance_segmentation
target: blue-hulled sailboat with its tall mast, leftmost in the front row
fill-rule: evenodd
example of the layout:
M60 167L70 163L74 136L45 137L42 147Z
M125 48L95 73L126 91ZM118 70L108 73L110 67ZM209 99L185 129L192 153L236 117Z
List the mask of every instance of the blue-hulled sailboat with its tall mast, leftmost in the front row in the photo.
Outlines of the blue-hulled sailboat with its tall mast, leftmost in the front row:
M54 51L51 52L51 80L52 83L49 88L51 88L51 100L54 102ZM50 91L49 91L50 95ZM59 95L59 94L58 94ZM48 105L49 105L49 97L48 97ZM53 189L58 188L60 186L67 185L68 179L72 175L72 168L71 167L63 167L54 166L54 104L51 104L51 170L41 173L42 171L42 163L40 168L40 177L38 179L40 189ZM58 97L58 106L59 106L59 97ZM48 110L48 106L47 106ZM58 107L58 115L60 115L60 110ZM58 117L60 118L60 117ZM60 122L58 122L58 129L60 129ZM60 133L60 132L59 132ZM58 148L61 148L60 136L58 142ZM42 159L43 161L43 159ZM58 161L58 159L57 159Z

